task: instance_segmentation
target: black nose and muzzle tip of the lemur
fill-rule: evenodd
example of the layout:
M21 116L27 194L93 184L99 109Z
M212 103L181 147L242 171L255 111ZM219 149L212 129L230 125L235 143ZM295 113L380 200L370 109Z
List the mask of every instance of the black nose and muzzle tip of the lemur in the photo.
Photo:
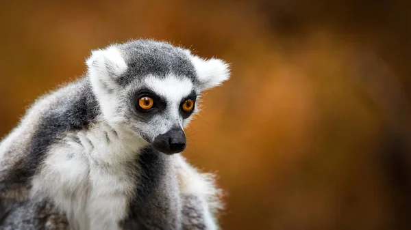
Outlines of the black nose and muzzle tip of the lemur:
M168 132L155 137L151 145L164 154L183 152L186 148L186 134L184 134L182 128L172 128Z

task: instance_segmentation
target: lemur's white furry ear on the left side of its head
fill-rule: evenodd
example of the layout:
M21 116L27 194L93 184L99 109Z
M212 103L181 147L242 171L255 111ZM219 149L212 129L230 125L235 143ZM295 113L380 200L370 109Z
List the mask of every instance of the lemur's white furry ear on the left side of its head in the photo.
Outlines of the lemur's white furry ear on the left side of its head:
M121 52L115 46L92 51L86 64L90 77L98 78L100 81L114 80L127 69Z

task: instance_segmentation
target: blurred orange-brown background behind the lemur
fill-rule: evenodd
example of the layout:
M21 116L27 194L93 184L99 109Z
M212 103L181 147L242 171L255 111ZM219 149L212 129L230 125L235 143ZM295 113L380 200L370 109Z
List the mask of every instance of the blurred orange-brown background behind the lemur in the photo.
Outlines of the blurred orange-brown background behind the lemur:
M1 1L0 135L91 49L167 40L232 63L184 152L219 175L222 229L410 229L410 6Z

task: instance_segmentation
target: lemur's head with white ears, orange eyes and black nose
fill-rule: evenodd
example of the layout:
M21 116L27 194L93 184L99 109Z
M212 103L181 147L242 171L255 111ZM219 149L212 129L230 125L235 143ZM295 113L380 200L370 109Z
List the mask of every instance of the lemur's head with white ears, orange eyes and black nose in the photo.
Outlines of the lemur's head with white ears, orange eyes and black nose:
M224 61L154 40L92 51L86 64L104 119L165 154L186 147L183 128L197 113L201 92L229 78Z

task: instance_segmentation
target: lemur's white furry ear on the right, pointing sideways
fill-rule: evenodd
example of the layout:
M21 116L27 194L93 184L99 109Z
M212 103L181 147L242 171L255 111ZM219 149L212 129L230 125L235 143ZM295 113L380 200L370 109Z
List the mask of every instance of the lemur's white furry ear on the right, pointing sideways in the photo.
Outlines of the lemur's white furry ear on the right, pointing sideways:
M201 89L206 90L221 85L229 78L229 64L221 59L202 59L192 55L192 63L197 72Z

